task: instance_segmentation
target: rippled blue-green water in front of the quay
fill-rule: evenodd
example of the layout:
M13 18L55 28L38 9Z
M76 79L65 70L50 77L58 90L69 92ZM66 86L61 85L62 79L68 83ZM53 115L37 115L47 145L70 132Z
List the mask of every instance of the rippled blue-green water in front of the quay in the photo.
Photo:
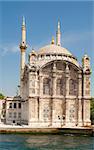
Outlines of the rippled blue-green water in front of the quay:
M94 150L94 137L0 134L0 150Z

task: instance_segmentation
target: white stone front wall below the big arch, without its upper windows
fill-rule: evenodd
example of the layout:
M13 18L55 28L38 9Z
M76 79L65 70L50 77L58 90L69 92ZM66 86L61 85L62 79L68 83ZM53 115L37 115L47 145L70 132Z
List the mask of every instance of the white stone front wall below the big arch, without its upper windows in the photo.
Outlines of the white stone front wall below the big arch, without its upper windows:
M67 70L66 70L67 69ZM82 95L79 70L65 62L53 62L44 66L39 74L36 71L29 73L29 125L32 127L63 127L82 126ZM66 76L67 75L67 76ZM51 81L50 95L43 94L43 81ZM64 95L57 95L57 79L64 80ZM70 95L70 79L77 81L76 94ZM79 84L80 83L80 84ZM32 92L32 88L35 89ZM72 87L74 88L74 87ZM38 94L39 89L39 94ZM72 89L74 90L74 89ZM74 92L75 93L75 92ZM80 93L80 95L79 95ZM80 96L80 99L78 98Z

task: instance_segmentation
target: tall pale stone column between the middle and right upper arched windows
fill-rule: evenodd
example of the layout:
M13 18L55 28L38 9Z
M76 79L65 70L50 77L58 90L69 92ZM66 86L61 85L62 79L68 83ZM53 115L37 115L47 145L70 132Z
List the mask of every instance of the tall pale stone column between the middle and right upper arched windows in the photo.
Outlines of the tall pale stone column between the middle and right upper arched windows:
M70 74L69 74L69 66L68 63L66 64L66 117L65 117L65 125L69 125L69 80L70 80Z

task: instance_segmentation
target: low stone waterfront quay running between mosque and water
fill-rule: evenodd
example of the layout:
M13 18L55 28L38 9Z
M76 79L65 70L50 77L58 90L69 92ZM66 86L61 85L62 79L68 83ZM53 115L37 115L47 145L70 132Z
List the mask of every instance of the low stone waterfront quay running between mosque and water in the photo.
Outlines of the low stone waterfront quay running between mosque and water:
M16 125L0 125L0 134L3 133L30 133L30 134L81 134L93 135L94 125L91 127L79 128L31 128L29 126L16 126Z

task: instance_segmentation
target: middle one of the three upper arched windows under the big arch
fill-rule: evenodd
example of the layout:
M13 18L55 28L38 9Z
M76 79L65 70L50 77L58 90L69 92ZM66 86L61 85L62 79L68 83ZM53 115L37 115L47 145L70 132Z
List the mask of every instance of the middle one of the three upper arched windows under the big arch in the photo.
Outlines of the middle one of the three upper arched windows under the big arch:
M57 79L56 94L57 95L64 95L64 81L62 78Z

